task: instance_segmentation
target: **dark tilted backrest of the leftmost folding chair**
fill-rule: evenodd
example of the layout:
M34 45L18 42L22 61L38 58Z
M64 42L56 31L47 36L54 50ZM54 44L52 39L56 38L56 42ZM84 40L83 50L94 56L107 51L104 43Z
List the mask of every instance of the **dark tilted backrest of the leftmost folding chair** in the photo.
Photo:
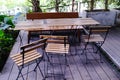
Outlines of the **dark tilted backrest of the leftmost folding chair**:
M45 50L46 41L47 41L47 38L40 39L38 41L34 41L30 44L24 45L20 48L21 49L21 54L22 54L23 65L24 65L24 55L25 55L25 53L30 52L32 50L36 50L38 48L41 48L41 49Z

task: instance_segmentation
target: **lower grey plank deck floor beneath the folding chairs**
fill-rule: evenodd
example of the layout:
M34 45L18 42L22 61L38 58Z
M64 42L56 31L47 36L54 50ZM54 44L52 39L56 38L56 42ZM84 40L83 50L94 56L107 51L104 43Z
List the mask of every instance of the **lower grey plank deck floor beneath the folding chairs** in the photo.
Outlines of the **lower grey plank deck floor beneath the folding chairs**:
M27 44L27 32L21 31L20 34L23 37L23 44ZM112 35L114 35L114 34L112 33ZM110 38L110 35L108 35L108 37ZM34 40L31 40L31 42L34 42L36 40L39 40L39 37L35 38ZM108 38L106 40L108 40ZM105 42L105 44L107 44L107 42ZM81 45L82 45L82 48L84 48L83 47L84 44L81 44ZM13 50L11 51L11 55L14 55L15 53L20 52L20 46L21 46L21 42L20 42L20 38L18 37L17 42L15 43ZM105 45L104 45L104 47L105 47ZM77 55L74 55L76 52L77 52ZM85 55L84 54L81 55L82 51L81 51L80 44L77 44L76 46L72 45L70 53L67 56L67 63L69 66L66 67L66 73L65 73L65 78L67 80L86 80L86 79L119 80L119 78L120 78L119 71L117 71L116 68L110 64L110 62L104 57L104 55L102 55L103 63L99 62L99 60L96 60L99 58L99 55L98 55L99 52L98 52L98 54L95 54L95 53L88 54L88 57L90 59L88 64L86 64ZM56 55L56 56L53 56L52 59L50 57L50 60L59 61L59 59L61 59L61 57L63 57L63 56ZM47 58L45 58L45 59L47 59ZM36 64L29 65L28 67L26 67L23 70L23 76L25 79L29 79L29 80L43 79L38 68L37 68L36 72L32 71L32 72L29 72L28 74L25 74L27 71L31 71L32 69L34 69L35 65ZM44 65L46 66L47 62L44 61L44 59L43 59L39 64L43 73L44 73ZM57 68L49 67L49 70L51 69L52 71L54 70L57 72L58 72L58 70L61 71L61 68L59 66L56 65L56 67ZM0 75L0 79L15 80L17 77L17 73L18 73L18 68L17 68L16 64L14 64L12 59L9 58L4 67L4 70L2 71L2 73ZM22 77L20 77L19 80L22 80ZM62 76L51 76L51 74L49 74L49 76L48 76L48 78L46 78L46 80L63 80L63 77Z

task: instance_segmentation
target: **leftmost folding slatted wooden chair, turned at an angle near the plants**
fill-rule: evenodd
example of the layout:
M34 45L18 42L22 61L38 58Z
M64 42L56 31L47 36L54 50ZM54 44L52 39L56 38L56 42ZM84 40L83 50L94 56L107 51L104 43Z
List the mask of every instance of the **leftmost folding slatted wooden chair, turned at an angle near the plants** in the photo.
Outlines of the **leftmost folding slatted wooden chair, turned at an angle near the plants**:
M38 67L41 72L42 77L44 78L44 75L39 66L39 63L43 59L44 53L43 54L39 53L37 51L37 49L40 48L42 50L45 50L46 41L47 41L47 39L41 39L41 40L32 42L30 44L24 45L20 48L21 49L20 53L14 54L11 56L12 60L16 63L16 65L18 66L18 69L19 69L19 73L18 73L16 80L18 80L20 75L22 76L22 79L25 80L23 77L23 74L22 74L22 70L25 67L27 67L35 62L36 62L36 66L34 68L34 71Z

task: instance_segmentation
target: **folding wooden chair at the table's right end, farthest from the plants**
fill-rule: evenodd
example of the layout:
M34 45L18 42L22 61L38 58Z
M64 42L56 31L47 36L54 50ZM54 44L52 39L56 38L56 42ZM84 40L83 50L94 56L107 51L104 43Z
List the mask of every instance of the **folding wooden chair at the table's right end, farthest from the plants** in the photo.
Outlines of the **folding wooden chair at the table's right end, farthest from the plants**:
M110 26L91 26L87 30L84 28L86 35L83 35L82 38L83 41L85 42L85 48L83 49L83 53L85 53L86 56L86 63L88 60L87 52L86 52L88 50L87 48L88 45L90 43L95 43L97 45L97 49L95 53L98 53L101 46L104 44L106 40L110 28L111 28ZM101 61L101 54L100 54L100 61Z

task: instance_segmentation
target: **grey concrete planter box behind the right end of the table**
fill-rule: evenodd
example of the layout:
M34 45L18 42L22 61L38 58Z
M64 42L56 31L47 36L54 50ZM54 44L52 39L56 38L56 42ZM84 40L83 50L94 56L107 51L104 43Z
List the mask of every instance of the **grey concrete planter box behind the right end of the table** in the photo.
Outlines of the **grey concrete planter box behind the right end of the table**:
M100 25L114 26L116 12L112 11L112 10L108 10L108 11L105 11L105 10L94 10L94 11L85 10L83 12L82 17L92 17L93 19L100 22Z

